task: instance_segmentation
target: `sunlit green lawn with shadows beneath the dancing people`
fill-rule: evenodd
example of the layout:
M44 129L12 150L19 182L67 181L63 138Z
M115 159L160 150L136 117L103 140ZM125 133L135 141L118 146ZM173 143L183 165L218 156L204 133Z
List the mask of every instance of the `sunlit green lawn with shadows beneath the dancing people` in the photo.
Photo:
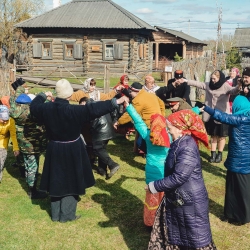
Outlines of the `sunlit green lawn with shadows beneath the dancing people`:
M110 142L108 150L121 168L110 180L94 171L96 185L78 203L77 214L82 217L65 224L50 220L49 199L28 199L25 180L11 166L14 157L9 151L0 184L0 249L147 249L150 233L142 218L145 159L135 156L132 147L133 138L119 136ZM223 164L208 163L208 156L208 150L201 148L213 239L219 250L248 250L250 225L220 220L226 171ZM41 157L40 172L43 160Z

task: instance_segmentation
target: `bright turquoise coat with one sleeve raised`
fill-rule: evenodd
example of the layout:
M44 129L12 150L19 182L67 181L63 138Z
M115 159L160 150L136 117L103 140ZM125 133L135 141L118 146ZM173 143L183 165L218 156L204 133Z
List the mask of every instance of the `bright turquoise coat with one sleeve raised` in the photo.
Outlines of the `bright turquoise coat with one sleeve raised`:
M156 181L164 178L164 164L168 155L169 148L153 145L151 143L150 130L147 128L147 125L131 104L127 107L126 111L134 121L136 130L146 141L146 183L148 184L151 181Z

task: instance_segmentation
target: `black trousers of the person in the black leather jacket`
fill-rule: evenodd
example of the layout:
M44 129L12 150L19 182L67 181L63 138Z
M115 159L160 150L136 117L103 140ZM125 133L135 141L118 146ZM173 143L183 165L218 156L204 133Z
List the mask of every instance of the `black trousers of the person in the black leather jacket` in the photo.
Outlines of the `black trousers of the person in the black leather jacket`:
M114 162L108 154L108 142L109 140L93 142L93 151L98 157L98 167L103 168L104 170L107 169L107 166L110 170L118 166L118 164Z

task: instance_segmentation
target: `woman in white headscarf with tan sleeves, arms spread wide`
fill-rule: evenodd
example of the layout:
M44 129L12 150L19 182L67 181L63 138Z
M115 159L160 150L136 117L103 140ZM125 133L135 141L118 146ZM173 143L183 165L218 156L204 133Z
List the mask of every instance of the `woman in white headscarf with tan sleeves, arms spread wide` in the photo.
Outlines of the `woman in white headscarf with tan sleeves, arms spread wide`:
M96 81L93 78L88 78L83 83L83 89L80 89L72 94L70 97L71 101L79 102L81 98L88 97L93 99L94 101L105 101L110 100L113 97L115 97L119 90L121 90L123 87L117 86L117 88L113 89L107 94L104 94L96 89Z

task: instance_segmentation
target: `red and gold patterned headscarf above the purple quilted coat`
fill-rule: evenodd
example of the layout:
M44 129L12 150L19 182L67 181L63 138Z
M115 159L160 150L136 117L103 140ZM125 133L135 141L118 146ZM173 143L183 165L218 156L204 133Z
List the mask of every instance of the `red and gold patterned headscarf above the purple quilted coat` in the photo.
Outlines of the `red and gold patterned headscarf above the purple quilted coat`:
M191 135L197 144L200 141L208 147L209 141L204 123L192 110L185 109L177 111L169 115L167 121L182 130L183 134Z

